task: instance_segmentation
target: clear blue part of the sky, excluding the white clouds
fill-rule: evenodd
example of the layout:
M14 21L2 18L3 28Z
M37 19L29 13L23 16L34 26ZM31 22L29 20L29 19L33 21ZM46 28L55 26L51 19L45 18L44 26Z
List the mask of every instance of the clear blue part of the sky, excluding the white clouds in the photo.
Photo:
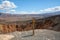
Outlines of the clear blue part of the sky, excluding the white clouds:
M13 2L14 5L16 5L16 8L12 8L12 9L15 10L16 13L18 14L20 13L24 14L24 12L26 14L31 12L37 13L40 12L40 10L54 8L57 6L59 6L60 8L60 0L7 0L7 1ZM2 2L3 1L0 0L0 4ZM0 12L3 11L4 10L0 10Z

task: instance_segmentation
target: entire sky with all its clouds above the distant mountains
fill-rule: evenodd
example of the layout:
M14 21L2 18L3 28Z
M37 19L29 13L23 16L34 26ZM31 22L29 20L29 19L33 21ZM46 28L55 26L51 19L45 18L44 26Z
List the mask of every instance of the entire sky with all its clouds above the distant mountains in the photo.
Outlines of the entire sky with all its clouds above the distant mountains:
M60 11L60 0L0 0L0 12L42 14Z

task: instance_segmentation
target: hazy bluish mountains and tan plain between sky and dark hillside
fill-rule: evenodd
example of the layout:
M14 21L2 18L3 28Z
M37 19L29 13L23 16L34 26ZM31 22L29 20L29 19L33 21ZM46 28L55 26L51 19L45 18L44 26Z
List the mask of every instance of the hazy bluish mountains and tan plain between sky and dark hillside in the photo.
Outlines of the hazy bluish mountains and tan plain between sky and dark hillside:
M8 14L0 13L0 22L13 22L13 21L27 21L35 19L46 18L50 16L60 15L60 11L44 14Z

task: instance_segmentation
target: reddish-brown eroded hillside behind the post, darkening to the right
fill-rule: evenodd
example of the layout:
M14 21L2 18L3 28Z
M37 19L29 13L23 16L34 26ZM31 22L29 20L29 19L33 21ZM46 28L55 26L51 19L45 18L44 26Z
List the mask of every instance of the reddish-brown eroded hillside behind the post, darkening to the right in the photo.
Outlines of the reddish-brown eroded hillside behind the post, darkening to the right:
M60 31L60 15L34 19L34 29L49 29ZM0 23L0 32L28 31L33 29L33 19L28 21L14 21Z

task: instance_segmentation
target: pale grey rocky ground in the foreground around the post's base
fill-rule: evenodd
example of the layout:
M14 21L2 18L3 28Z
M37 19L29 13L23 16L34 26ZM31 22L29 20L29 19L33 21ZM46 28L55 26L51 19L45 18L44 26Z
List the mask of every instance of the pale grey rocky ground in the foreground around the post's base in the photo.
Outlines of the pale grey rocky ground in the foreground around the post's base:
M0 34L0 40L60 40L60 32L39 29L35 30L32 36L32 30L24 32L13 32L8 34Z

